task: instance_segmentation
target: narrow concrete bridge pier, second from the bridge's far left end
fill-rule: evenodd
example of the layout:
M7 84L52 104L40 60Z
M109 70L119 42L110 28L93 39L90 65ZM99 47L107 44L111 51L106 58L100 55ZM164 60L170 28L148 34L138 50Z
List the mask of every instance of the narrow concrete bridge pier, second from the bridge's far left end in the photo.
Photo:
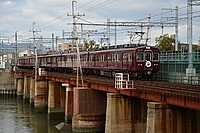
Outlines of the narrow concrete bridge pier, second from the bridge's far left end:
M24 95L23 95L23 100L24 102L28 102L30 99L30 80L31 77L29 76L24 76Z

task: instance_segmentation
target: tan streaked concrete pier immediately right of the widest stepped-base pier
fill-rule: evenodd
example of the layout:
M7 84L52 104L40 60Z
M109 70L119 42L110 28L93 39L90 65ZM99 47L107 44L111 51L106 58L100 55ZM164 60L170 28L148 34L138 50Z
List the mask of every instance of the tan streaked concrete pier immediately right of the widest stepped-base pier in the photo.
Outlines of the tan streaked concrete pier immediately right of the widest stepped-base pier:
M117 94L107 94L105 133L131 133L131 99Z

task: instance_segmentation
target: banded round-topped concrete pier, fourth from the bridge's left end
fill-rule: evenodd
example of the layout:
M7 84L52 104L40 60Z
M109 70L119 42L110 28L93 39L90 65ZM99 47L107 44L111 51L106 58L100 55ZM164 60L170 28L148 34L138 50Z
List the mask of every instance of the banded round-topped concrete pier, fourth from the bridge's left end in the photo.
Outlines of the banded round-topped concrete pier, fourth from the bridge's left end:
M34 110L36 112L47 112L48 107L48 81L39 77L35 84Z

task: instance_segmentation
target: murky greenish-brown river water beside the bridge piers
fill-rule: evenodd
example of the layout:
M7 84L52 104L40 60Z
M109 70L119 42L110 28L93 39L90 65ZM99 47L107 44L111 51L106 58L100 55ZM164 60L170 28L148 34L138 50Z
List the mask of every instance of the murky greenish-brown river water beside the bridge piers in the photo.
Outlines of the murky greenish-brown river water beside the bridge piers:
M72 133L55 126L63 120L48 120L47 113L35 113L29 103L17 96L0 95L0 133Z

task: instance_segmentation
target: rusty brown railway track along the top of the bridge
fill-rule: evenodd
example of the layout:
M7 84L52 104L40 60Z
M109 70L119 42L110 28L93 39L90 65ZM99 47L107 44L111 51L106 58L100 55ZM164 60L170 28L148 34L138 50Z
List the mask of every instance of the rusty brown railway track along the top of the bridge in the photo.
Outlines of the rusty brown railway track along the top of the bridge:
M33 73L33 71L24 71ZM34 75L34 74L33 74ZM61 73L61 72L47 72L49 77L65 78L70 80L76 80L77 75L72 73ZM115 86L114 78L83 75L84 82L97 83L108 86ZM79 81L81 78L79 76ZM200 87L198 85L171 83L171 82L160 82L160 81L142 81L134 80L134 91L153 93L158 95L174 95L181 97L189 97L200 100ZM131 89L130 89L131 90Z

